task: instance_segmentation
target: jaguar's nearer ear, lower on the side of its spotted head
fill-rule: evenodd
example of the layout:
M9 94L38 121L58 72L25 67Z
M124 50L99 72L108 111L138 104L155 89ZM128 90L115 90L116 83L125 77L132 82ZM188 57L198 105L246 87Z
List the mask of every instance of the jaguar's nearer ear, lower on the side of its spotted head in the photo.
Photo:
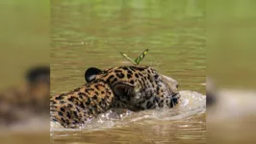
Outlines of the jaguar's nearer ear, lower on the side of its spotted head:
M129 84L118 83L113 86L113 91L117 96L134 96L134 87Z

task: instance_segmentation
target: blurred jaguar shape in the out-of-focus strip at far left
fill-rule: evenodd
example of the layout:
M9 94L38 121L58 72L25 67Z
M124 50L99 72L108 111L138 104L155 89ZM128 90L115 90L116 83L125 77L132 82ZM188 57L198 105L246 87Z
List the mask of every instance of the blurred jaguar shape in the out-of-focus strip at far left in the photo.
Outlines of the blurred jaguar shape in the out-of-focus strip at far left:
M25 123L49 115L50 66L35 65L25 73L25 83L0 93L0 127Z

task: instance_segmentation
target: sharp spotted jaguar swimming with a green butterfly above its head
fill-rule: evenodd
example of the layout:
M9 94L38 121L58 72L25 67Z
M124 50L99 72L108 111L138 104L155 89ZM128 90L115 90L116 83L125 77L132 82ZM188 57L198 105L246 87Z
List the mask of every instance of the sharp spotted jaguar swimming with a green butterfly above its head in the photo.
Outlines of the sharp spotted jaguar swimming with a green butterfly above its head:
M173 108L178 104L178 84L148 66L89 68L87 84L51 96L51 120L64 128L77 128L110 108L140 111Z

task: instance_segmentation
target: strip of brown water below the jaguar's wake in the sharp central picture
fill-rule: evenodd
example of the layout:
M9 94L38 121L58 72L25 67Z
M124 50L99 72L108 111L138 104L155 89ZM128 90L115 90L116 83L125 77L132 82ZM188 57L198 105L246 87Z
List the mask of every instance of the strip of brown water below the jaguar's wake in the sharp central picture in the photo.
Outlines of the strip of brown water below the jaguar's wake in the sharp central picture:
M55 132L51 142L55 143L205 143L202 136L205 123L199 121L205 115L194 116L190 122L155 121L151 123L133 123L129 126L108 131L66 131ZM188 121L188 120L187 120ZM56 135L57 134L57 135Z

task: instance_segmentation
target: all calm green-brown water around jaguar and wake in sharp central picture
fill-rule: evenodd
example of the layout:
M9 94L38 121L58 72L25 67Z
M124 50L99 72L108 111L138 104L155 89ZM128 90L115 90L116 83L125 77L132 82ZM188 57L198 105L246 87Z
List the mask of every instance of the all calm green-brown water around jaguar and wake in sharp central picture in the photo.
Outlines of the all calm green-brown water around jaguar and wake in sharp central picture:
M51 95L84 84L90 66L121 65L125 59L119 52L136 58L145 48L149 53L141 64L177 80L181 90L205 93L203 1L55 0L51 8ZM153 113L126 113L124 119ZM55 131L51 142L205 143L205 112L179 120L162 120L169 115L158 113L161 119L107 130Z

